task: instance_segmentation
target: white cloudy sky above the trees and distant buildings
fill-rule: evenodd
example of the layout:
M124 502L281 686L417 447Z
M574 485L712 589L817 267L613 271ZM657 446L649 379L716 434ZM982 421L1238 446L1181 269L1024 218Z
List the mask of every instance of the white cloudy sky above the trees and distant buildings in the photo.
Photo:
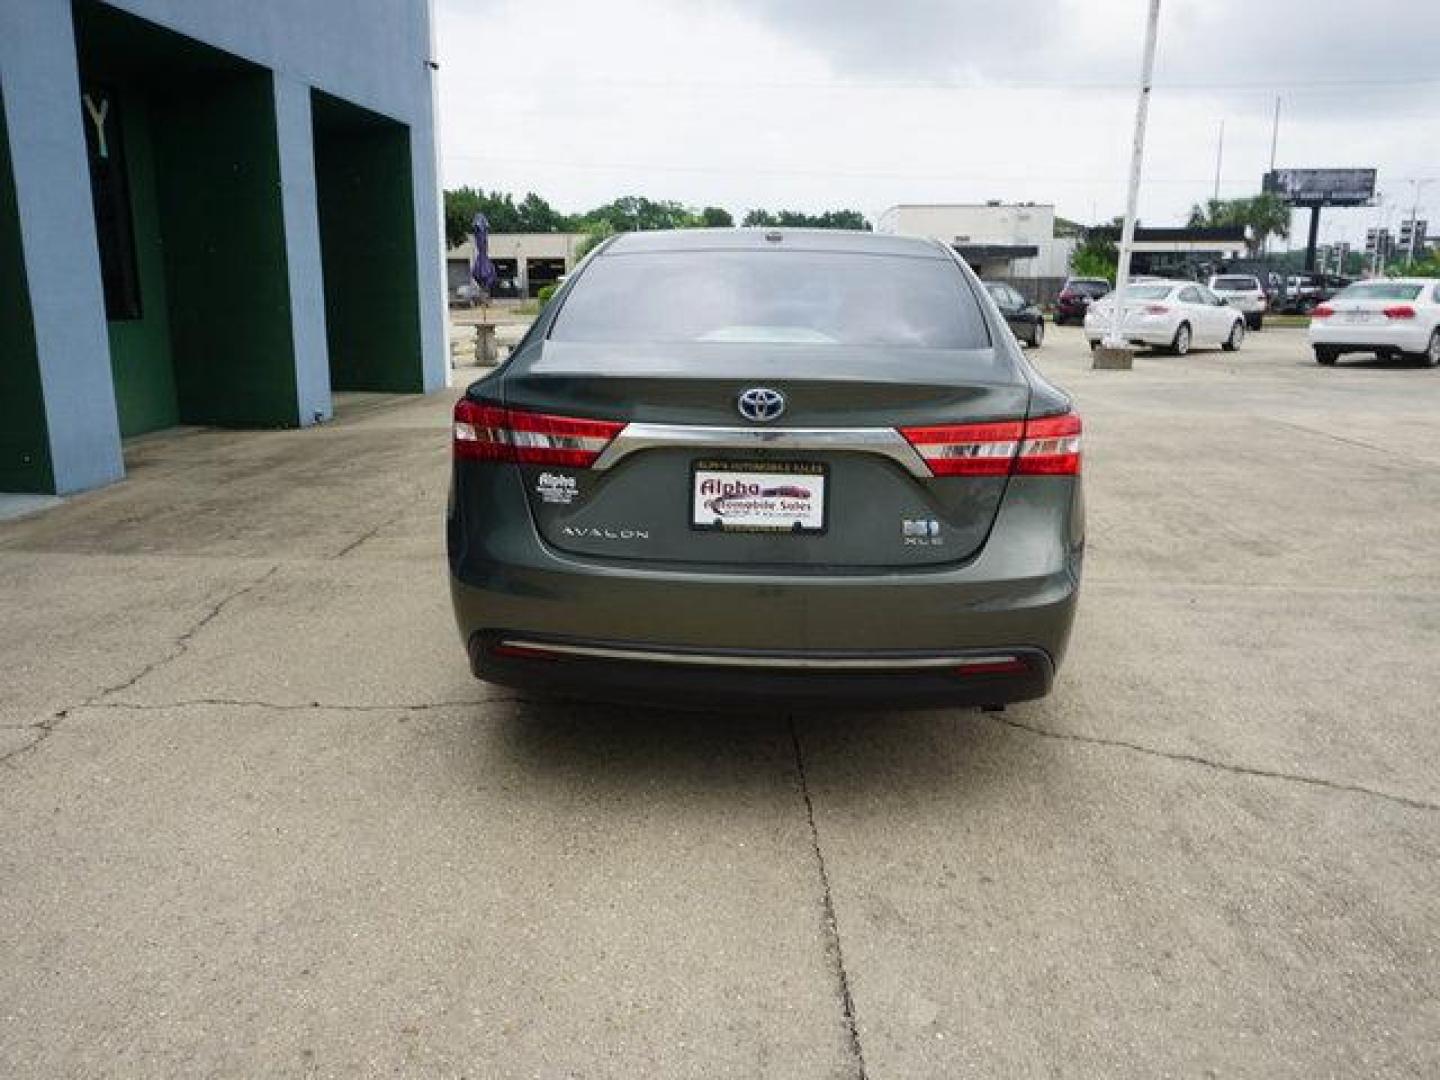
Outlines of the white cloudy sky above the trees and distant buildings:
M893 203L1120 212L1145 0L435 0L448 187L874 219ZM1140 217L1277 164L1372 166L1322 239L1440 219L1440 4L1162 0ZM1297 226L1302 222L1297 219ZM1431 226L1434 232L1437 226Z

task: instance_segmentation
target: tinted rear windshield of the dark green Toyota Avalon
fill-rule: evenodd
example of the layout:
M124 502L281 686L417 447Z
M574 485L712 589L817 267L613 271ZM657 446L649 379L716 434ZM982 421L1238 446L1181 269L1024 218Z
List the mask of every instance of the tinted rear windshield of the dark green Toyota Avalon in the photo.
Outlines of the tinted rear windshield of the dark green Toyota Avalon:
M575 282L550 337L989 347L975 294L948 259L804 251L602 255Z

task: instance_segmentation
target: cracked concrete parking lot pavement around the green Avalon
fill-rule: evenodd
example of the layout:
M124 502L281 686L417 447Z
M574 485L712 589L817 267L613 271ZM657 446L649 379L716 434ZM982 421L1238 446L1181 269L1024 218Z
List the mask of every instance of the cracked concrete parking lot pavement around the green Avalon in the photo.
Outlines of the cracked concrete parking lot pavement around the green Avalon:
M1440 370L1090 370L1081 613L1002 714L471 680L454 393L0 524L0 1074L1440 1073Z

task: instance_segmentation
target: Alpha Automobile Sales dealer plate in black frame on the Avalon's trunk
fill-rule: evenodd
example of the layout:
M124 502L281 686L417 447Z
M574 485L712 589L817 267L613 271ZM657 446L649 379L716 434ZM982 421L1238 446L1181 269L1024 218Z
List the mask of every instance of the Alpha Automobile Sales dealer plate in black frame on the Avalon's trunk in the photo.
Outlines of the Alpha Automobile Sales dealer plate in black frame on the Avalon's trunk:
M690 524L733 533L824 533L825 467L808 461L697 461Z

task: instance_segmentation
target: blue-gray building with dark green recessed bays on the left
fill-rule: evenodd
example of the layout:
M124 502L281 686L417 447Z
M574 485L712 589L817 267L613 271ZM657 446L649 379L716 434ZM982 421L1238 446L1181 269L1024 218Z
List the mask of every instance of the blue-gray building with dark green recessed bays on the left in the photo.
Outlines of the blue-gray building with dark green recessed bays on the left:
M445 382L431 19L0 0L0 491Z

